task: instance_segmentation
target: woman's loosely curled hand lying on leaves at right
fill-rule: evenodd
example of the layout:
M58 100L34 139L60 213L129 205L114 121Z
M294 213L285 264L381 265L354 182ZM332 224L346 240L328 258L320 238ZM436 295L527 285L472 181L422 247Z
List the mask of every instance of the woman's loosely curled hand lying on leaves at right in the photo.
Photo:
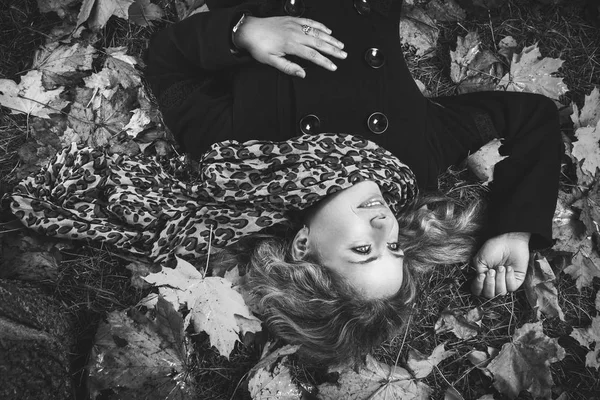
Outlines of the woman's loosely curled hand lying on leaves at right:
M527 232L511 232L485 242L473 260L477 277L471 283L471 292L491 299L517 290L529 265L530 236Z

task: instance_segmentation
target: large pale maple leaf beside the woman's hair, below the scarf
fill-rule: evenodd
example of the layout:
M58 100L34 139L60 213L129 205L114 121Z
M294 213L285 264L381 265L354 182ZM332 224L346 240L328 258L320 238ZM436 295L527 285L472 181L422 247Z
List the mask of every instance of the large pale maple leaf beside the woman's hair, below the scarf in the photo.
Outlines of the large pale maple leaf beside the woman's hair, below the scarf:
M225 357L233 351L240 334L261 330L260 320L252 315L231 282L204 277L187 261L177 258L176 268L163 267L143 279L159 286L160 295L176 309L187 307L186 326L206 332L211 344Z

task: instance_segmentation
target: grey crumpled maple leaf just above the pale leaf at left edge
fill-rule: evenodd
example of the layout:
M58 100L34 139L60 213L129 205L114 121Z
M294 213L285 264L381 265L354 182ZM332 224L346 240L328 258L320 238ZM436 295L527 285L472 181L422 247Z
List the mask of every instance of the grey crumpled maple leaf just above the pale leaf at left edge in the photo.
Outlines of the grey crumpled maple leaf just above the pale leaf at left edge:
M43 72L44 86L67 85L77 73L92 69L96 50L91 45L65 45L52 42L39 48L33 59L32 69Z

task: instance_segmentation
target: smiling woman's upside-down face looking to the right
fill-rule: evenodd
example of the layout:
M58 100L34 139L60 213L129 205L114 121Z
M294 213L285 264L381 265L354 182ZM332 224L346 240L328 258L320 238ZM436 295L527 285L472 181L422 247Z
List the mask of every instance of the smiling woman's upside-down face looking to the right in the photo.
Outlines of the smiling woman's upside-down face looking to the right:
M303 229L308 251L366 298L388 297L400 288L404 253L397 243L398 222L375 182L326 198Z

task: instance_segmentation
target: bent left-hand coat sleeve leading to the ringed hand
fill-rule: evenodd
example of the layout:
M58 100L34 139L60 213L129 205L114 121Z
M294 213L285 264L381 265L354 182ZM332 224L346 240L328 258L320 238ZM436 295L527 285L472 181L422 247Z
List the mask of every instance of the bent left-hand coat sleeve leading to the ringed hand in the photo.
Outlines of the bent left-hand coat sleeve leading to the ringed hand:
M164 121L194 157L231 137L230 70L251 61L231 51L231 30L242 13L252 13L251 3L221 3L229 7L211 8L158 32L146 53L146 77Z

